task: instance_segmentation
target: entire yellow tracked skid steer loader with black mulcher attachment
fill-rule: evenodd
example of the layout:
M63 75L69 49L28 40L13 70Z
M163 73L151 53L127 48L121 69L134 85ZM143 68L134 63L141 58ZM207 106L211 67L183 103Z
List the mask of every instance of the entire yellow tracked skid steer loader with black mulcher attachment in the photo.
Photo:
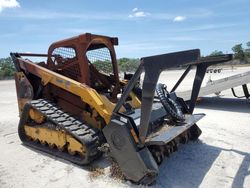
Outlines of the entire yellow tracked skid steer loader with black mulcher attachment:
M47 54L11 53L19 137L79 165L100 157L105 145L126 179L150 184L165 156L201 134L196 122L204 114L192 113L207 68L202 62L228 57L202 59L198 49L145 57L129 80L121 80L114 45L117 38L86 33L51 44ZM174 92L184 76L170 92L157 83L163 70L183 65L197 66L188 104Z

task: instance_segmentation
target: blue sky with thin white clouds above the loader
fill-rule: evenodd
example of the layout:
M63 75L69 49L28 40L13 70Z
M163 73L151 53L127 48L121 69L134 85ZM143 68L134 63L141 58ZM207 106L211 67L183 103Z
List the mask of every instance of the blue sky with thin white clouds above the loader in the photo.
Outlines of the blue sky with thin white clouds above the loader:
M119 38L117 57L199 48L231 53L250 41L250 0L0 0L0 58L47 53L82 33Z

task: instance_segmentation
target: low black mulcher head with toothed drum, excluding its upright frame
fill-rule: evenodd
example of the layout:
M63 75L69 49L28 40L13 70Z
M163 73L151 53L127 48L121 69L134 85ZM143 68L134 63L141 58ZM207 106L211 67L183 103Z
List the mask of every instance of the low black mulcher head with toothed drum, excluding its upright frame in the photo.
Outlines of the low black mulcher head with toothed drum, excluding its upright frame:
M114 117L103 129L103 133L111 155L118 162L125 177L148 185L155 181L159 173L158 165L165 157L175 152L180 144L199 137L201 130L195 122L203 116L204 114L190 115L184 122L174 126L162 125L160 130L149 134L144 146L136 143L131 134L131 118Z

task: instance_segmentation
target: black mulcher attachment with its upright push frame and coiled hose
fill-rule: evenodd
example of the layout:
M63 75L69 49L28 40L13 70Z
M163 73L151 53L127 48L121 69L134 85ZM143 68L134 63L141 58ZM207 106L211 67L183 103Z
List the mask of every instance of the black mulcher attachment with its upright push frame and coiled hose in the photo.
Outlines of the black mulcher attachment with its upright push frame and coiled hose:
M204 114L192 115L197 98L188 106L175 92L168 92L164 84L157 84L161 71L190 62L197 62L199 50L183 51L141 59L141 64L118 101L111 121L103 129L112 157L119 164L125 178L151 184L155 181L162 160L176 151L180 144L198 139L201 130L196 125ZM120 112L142 72L141 108ZM199 87L200 79L194 80ZM157 96L155 96L155 91ZM127 105L127 104L126 104Z

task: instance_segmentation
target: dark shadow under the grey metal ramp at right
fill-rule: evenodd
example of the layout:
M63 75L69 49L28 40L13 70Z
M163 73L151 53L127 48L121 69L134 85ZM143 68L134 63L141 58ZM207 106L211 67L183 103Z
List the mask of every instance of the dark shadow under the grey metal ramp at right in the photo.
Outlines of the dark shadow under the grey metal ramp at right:
M249 113L250 101L238 98L202 97L196 107L209 110Z

